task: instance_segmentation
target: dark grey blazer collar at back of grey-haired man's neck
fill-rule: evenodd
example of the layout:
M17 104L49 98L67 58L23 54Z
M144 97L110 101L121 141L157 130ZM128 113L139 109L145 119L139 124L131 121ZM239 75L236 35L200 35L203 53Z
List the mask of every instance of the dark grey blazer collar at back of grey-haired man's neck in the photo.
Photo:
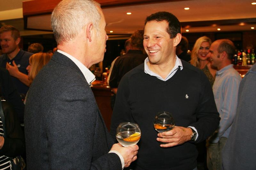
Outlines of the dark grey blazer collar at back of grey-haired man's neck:
M63 55L59 52L55 52L52 55L52 59L53 61L60 63L66 67L72 68L73 70L75 70L77 73L81 74L81 76L84 78L84 74L82 73L82 71L77 67L77 65L71 60L69 59L66 55Z

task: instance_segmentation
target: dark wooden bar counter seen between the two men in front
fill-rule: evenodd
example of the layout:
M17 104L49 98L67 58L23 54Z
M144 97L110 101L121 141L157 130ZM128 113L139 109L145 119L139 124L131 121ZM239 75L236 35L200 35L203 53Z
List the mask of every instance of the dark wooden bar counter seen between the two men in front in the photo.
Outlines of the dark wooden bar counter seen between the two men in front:
M92 92L95 96L96 102L100 109L100 113L106 123L108 130L110 129L111 116L112 116L112 108L110 105L111 88L108 85L104 85L102 81L95 80L91 85Z

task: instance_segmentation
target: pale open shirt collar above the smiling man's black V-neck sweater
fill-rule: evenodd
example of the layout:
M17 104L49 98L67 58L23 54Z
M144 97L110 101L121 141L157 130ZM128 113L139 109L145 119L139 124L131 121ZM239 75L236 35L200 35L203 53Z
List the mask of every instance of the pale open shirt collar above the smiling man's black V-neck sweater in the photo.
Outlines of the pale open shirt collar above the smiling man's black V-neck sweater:
M178 70L179 67L180 67L180 70L183 69L181 60L180 60L180 58L176 55L176 61L175 61L174 67L172 68L172 70L170 71L170 73L168 74L168 76L167 76L165 79L163 79L163 78L162 78L161 76L159 76L158 74L156 74L156 73L154 73L153 71L149 70L148 64L147 64L148 62L149 62L149 59L148 59L148 57L147 57L147 58L145 59L145 61L144 61L144 72L145 72L146 74L149 74L150 76L155 76L155 77L157 77L157 78L159 78L160 80L163 80L163 81L166 81L166 80L170 79L170 78L176 73L176 71Z

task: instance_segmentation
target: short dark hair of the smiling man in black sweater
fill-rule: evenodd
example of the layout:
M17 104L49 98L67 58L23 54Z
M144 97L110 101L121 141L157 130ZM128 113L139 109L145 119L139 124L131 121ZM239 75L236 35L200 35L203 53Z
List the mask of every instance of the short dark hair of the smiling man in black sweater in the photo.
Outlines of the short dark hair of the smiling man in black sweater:
M151 14L146 18L145 25L149 21L167 21L169 27L167 28L167 33L170 34L170 38L176 37L177 33L181 33L181 26L180 26L180 21L177 17L175 17L172 13L170 12L156 12L154 14Z

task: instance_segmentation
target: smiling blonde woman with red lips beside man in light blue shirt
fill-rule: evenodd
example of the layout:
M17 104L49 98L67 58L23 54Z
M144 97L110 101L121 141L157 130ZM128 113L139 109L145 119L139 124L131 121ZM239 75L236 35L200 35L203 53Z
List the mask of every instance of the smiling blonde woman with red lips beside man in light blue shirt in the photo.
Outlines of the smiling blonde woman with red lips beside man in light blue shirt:
M212 68L211 61L207 59L211 44L211 39L206 36L198 38L191 52L190 63L203 70L213 86L217 70Z

